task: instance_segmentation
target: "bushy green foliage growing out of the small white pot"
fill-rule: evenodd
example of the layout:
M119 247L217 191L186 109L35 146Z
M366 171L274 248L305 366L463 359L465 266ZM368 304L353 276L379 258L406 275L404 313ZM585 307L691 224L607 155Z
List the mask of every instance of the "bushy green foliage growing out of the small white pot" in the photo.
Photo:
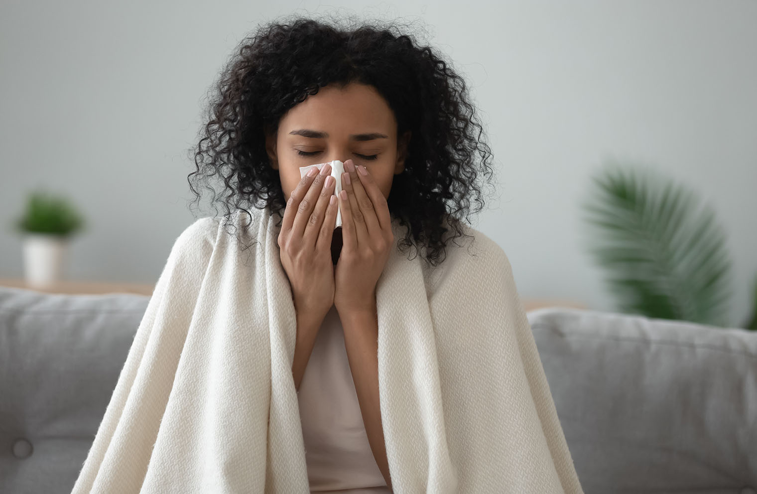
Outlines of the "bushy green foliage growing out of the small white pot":
M34 191L29 195L26 209L15 225L23 233L46 233L67 237L83 227L84 219L64 197Z

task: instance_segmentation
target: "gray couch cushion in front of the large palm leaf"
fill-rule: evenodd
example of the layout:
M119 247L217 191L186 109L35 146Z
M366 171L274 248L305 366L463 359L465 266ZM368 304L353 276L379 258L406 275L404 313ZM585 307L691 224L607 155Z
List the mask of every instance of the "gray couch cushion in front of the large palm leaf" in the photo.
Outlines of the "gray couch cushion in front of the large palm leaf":
M757 333L528 313L587 494L757 492Z

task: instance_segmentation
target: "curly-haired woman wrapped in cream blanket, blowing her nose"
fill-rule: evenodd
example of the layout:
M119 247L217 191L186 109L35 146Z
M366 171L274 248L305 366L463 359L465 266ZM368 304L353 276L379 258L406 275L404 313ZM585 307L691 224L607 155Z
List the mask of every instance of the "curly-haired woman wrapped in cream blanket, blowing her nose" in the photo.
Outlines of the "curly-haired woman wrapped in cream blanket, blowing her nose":
M491 152L450 65L393 27L271 23L241 43L210 110L190 185L199 199L196 185L223 177L226 222L200 219L174 245L74 492L123 487L126 474L104 465L127 450L137 458L131 485L141 489L581 492L506 256L460 221L472 199L483 206ZM334 160L345 170L338 196ZM251 265L222 247L228 226L262 244ZM450 245L474 238L466 232L480 261ZM397 256L412 246L425 265ZM265 290L241 296L249 285ZM277 295L283 285L291 300ZM185 309L168 317L160 306L172 297ZM240 321L260 322L265 334L232 333ZM150 352L149 334L174 333L171 378L145 398L158 412L129 412L139 402L133 390L148 394L140 372L157 375L150 362L168 353ZM254 345L224 343L254 336ZM263 350L245 361L244 348ZM217 362L223 378L213 374ZM229 396L247 399L241 409L256 418L219 408ZM123 438L139 417L152 428L138 447ZM208 436L235 434L259 437L198 452ZM241 451L246 464L232 454Z

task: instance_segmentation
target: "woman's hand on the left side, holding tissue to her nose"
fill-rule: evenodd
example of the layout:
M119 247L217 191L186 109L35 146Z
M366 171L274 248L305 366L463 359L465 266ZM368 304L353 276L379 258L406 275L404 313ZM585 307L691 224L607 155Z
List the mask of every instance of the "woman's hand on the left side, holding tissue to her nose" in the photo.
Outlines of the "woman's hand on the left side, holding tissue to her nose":
M302 178L287 201L279 232L282 266L298 314L325 317L334 304L331 244L338 201L330 174L326 164L316 176Z

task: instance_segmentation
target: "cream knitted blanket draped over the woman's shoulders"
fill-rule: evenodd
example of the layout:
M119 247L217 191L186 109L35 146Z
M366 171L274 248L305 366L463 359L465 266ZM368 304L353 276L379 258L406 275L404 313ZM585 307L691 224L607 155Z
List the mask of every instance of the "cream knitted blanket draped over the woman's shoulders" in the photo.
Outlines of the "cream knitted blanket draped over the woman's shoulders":
M73 494L309 492L278 217L250 213L249 250L213 217L176 239ZM583 492L502 248L465 225L475 240L426 267L392 228L376 303L393 491Z

